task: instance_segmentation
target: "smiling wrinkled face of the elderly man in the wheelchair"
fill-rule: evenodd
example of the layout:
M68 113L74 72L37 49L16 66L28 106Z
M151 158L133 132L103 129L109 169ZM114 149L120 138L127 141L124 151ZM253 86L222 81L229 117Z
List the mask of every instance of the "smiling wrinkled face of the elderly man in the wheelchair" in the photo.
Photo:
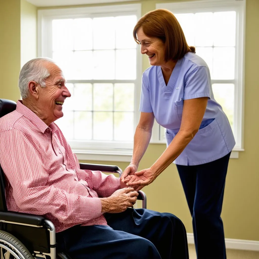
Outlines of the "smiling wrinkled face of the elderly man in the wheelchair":
M62 105L71 94L65 86L65 79L61 69L53 64L46 63L50 76L46 78L46 87L39 86L37 106L41 119L47 124L63 116Z

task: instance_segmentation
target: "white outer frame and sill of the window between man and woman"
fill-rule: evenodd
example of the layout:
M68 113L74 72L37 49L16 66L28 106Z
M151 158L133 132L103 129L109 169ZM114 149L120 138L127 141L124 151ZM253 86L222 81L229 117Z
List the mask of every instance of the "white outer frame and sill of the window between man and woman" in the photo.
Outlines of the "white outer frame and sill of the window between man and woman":
M38 56L52 56L52 19L75 19L89 17L108 17L136 15L141 17L141 4L122 4L107 6L91 6L79 8L59 8L38 10ZM133 36L132 36L133 37ZM48 40L50 39L50 41ZM136 80L134 89L134 128L136 128L140 116L139 102L141 93L142 57L140 48L136 48ZM71 82L70 82L71 81ZM68 83L75 83L68 80ZM76 80L80 82L82 80ZM89 82L91 80L88 80ZM95 80L98 81L98 80ZM111 80L102 80L102 82ZM115 80L114 80L115 81ZM112 80L113 82L113 80ZM124 81L127 83L127 80ZM79 160L95 161L124 161L129 162L133 152L133 140L131 142L120 141L69 141L69 144Z

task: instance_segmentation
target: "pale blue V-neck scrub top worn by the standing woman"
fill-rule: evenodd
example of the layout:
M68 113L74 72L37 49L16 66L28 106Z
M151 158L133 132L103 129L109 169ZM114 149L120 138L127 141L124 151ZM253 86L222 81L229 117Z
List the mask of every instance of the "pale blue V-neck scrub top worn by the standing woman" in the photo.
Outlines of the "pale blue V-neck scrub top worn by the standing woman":
M175 164L193 166L227 155L235 145L231 126L214 99L208 66L196 54L188 52L177 61L167 85L160 66L151 66L142 75L139 110L153 112L166 128L167 146L179 131L183 100L198 97L209 98L200 129Z

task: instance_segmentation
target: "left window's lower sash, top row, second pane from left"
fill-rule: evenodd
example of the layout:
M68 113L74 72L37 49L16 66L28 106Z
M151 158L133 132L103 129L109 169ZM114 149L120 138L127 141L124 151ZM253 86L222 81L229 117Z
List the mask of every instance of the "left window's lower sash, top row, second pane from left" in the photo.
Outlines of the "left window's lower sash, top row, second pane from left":
M92 84L75 84L74 95L76 111L92 111Z

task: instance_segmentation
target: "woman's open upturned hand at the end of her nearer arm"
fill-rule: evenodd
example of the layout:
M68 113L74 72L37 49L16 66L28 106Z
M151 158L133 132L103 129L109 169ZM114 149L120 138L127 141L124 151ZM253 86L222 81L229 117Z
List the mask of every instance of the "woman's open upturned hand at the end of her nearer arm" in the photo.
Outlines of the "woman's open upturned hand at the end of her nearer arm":
M151 168L143 169L135 172L134 175L129 175L125 178L126 185L133 187L135 190L140 190L146 185L149 185L156 179L155 172Z

